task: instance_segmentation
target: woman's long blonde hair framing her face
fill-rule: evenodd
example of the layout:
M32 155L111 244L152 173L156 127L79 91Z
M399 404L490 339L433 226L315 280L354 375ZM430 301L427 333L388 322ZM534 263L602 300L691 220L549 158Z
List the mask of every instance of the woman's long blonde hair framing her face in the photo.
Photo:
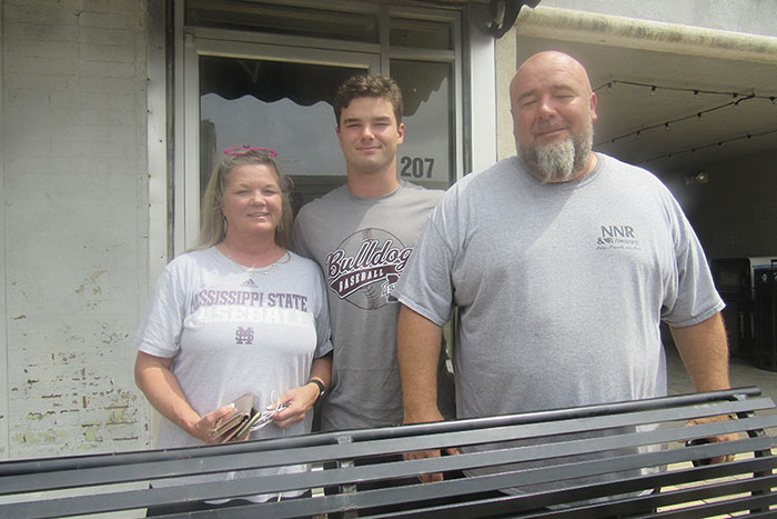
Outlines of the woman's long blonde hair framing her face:
M221 212L224 207L224 192L235 168L241 166L268 166L275 172L281 188L281 223L275 228L275 243L287 249L291 246L291 179L281 173L278 161L264 150L245 150L241 153L225 153L213 170L202 200L202 228L195 249L208 249L220 243L226 237L226 220Z

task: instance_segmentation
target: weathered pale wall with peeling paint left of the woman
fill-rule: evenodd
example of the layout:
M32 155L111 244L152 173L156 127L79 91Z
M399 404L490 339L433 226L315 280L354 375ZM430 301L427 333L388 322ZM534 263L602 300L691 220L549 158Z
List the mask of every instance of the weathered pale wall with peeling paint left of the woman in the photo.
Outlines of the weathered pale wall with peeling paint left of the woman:
M2 1L0 459L135 449L143 0Z

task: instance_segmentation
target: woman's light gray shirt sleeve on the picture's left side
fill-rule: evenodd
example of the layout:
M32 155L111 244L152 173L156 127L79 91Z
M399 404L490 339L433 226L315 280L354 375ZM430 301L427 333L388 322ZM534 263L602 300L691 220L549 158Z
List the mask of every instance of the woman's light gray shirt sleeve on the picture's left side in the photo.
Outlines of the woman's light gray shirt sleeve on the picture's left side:
M175 357L180 349L184 318L185 295L168 267L157 281L138 329L135 347L154 357Z

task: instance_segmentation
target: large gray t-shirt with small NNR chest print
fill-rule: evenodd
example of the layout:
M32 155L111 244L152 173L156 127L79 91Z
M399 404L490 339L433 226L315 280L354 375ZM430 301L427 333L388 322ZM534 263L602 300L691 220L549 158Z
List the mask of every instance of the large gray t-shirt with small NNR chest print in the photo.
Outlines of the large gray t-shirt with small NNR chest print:
M420 238L394 293L437 325L458 307L458 418L664 396L660 321L723 308L669 191L597 157L562 184L516 157L467 176Z

